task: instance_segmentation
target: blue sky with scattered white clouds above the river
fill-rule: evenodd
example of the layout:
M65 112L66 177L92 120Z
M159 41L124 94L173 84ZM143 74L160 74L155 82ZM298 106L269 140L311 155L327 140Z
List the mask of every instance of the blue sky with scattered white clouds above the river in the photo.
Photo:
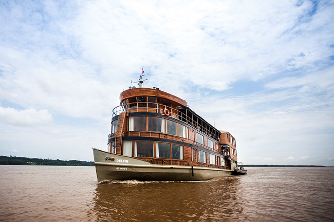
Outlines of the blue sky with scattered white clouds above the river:
M238 161L334 166L334 1L3 0L0 24L0 155L93 161L143 67Z

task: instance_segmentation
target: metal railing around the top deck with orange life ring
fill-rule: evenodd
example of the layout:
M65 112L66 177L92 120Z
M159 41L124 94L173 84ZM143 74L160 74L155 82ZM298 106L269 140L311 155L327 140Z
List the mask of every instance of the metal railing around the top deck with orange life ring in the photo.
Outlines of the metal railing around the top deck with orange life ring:
M195 129L205 133L206 135L212 137L216 141L219 141L219 137L211 133L208 129L203 127L199 122L197 122L192 116L186 115L177 109L158 103L140 102L140 103L128 103L124 105L117 106L113 109L113 117L120 115L122 112L152 112L164 114L164 110L168 109L169 116L181 120L182 122L194 127ZM198 118L197 118L198 119Z

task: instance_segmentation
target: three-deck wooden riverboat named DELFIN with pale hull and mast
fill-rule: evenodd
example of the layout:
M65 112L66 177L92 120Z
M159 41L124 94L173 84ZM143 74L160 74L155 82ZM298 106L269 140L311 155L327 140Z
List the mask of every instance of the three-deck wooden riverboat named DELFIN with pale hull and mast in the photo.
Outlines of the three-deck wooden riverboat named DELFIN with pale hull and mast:
M235 138L217 130L185 100L159 88L129 87L114 108L107 151L93 148L98 182L192 181L237 168Z

